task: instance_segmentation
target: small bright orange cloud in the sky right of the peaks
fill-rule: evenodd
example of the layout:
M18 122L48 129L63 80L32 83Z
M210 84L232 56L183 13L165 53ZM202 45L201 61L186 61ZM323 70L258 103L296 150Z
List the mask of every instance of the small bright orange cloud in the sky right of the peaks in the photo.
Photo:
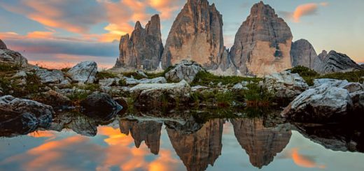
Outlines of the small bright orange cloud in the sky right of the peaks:
M293 22L300 22L300 19L303 16L316 14L318 6L328 6L328 3L306 3L297 6L291 16L293 18Z

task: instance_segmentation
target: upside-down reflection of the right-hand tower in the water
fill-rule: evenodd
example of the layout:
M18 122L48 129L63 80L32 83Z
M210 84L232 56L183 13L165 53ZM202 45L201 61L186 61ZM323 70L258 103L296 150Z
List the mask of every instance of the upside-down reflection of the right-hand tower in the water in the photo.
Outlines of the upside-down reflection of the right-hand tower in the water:
M237 141L257 168L271 163L290 140L291 132L284 126L265 128L261 119L232 119L231 122Z

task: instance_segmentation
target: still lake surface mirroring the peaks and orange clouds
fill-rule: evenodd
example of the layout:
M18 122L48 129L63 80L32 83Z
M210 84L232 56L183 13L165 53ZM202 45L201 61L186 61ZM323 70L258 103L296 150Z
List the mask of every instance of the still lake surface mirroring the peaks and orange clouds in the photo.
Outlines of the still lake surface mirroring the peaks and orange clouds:
M48 130L1 134L0 170L364 170L364 154L347 152L363 141L337 128L335 139L322 126L178 116L61 114Z

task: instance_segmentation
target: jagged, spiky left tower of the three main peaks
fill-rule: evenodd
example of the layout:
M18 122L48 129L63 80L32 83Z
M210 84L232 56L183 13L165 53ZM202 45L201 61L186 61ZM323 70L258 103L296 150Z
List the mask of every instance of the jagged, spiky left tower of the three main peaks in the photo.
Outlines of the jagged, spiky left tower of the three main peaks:
M157 69L163 52L159 15L153 15L145 29L137 22L132 36L120 38L119 50L116 68Z

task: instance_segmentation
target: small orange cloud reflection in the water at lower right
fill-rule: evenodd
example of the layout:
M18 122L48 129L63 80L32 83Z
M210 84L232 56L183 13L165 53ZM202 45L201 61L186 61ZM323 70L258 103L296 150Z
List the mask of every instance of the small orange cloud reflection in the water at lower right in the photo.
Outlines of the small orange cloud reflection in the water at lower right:
M297 148L293 148L291 151L293 162L303 168L325 168L325 165L318 165L315 161L311 160L307 156L303 156L299 153Z

